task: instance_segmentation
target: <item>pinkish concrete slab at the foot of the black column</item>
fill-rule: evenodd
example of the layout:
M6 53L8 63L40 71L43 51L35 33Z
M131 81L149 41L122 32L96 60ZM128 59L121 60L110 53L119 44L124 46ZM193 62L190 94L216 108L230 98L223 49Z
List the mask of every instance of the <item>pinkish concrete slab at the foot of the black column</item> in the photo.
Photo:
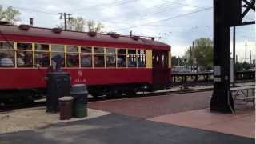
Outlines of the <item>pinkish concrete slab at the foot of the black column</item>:
M254 113L252 109L237 110L235 114L211 113L209 109L202 109L167 114L149 120L255 138Z

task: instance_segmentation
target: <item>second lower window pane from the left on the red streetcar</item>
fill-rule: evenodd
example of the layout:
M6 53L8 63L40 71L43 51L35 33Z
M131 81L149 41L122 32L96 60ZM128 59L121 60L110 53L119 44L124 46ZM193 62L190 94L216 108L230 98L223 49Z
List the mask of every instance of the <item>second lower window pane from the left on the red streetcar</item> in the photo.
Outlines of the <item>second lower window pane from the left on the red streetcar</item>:
M17 66L32 67L32 51L17 51Z

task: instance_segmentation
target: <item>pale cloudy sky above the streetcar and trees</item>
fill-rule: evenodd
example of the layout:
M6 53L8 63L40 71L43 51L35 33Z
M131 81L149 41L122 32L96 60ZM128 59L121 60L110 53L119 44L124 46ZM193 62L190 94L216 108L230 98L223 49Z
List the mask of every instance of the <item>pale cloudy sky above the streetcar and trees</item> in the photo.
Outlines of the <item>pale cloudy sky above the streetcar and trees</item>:
M173 56L182 57L197 38L213 38L213 0L2 0L3 7L13 6L21 12L20 23L53 28L62 20L58 13L72 17L95 20L104 25L103 32L156 37L171 46ZM250 11L243 21L254 20ZM230 29L230 51L232 34ZM236 29L236 54L238 61L247 62L250 50L256 57L255 26L238 26Z

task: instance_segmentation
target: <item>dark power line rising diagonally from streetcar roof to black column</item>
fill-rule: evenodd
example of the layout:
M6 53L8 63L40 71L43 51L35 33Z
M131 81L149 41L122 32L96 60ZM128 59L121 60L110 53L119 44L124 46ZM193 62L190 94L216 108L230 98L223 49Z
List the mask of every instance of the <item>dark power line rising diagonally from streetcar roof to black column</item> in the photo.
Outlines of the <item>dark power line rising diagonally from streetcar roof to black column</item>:
M120 29L116 29L116 30L126 30L126 29L136 28L136 27L140 27L140 26L146 26L146 25L156 23L156 22L165 22L165 21L169 21L169 20L174 19L174 18L182 18L182 17L185 17L185 16L190 15L190 14L195 14L195 13L198 13L198 12L202 12L202 11L205 11L205 10L211 10L211 9L212 9L212 7L208 7L208 8L201 9L201 10L195 10L195 11L192 11L192 12L186 13L186 14L179 14L177 16L170 17L170 18L165 18L165 19L161 19L161 20L158 20L158 21L154 21L154 22L146 22L146 23L142 23L141 25L130 26L130 27L120 28ZM116 31L116 30L113 30L113 31Z

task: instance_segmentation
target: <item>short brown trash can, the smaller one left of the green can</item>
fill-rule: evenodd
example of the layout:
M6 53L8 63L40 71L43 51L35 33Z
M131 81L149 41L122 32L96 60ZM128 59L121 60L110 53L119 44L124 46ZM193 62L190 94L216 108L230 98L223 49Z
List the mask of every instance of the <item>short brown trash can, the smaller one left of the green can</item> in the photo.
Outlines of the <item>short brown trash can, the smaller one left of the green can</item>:
M73 115L73 97L58 98L60 120L66 120L72 118Z

